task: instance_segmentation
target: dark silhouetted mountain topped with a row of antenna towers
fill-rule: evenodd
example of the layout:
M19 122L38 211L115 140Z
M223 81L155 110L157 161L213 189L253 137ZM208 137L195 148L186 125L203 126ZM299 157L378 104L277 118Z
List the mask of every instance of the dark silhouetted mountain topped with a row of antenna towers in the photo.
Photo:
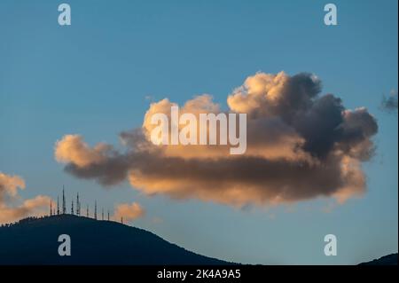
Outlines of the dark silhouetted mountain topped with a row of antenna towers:
M60 256L59 235L71 239ZM60 215L0 227L0 264L229 264L197 255L152 232L113 221Z

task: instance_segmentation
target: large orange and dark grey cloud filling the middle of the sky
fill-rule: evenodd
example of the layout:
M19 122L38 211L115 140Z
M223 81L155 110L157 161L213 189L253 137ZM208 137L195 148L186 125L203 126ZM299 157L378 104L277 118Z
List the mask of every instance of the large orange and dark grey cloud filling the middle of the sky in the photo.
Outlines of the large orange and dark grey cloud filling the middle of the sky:
M125 152L112 145L90 147L81 136L67 135L57 142L55 155L75 177L102 185L128 179L143 193L177 200L239 207L317 197L343 202L364 193L362 162L374 153L378 125L365 108L346 109L340 98L321 90L321 81L308 73L249 76L227 98L226 113L247 114L242 155L229 154L229 145L153 145L150 118L170 116L176 104L168 98L150 105L141 129L121 133ZM223 110L211 96L201 95L179 112L198 116Z

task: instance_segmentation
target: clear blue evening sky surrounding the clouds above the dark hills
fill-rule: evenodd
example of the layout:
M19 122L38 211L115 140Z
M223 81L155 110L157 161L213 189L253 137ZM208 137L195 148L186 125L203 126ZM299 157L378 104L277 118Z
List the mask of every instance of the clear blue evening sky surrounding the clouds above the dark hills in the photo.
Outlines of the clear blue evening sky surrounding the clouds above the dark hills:
M72 25L62 27L61 2L0 2L0 172L23 178L20 201L56 200L65 185L66 197L79 192L83 207L97 200L121 212L121 204L136 203L145 213L138 209L130 224L231 262L354 264L397 252L397 109L381 107L384 95L397 99L397 1L334 1L338 26L325 26L323 1L65 2ZM118 135L141 128L150 104L163 98L183 106L209 94L234 110L239 104L227 98L248 77L281 71L317 75L320 95L375 118L363 193L275 205L176 199L148 195L128 179L101 185L76 177L79 167L68 173L55 156L68 134L122 152ZM329 233L336 256L324 254Z

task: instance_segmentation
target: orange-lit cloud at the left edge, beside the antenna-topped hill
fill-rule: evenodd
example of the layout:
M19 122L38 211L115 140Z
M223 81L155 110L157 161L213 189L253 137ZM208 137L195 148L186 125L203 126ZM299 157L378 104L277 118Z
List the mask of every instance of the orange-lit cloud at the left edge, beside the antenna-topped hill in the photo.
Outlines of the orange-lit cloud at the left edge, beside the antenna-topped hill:
M15 205L20 202L18 189L25 189L25 181L21 177L0 172L0 223L14 222L26 216L41 216L47 211L51 199L43 195Z

